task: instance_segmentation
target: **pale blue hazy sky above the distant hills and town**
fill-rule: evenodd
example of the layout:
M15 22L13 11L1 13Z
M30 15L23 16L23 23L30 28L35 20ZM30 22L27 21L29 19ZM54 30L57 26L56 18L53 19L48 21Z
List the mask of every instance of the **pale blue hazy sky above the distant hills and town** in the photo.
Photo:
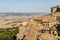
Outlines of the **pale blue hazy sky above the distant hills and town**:
M50 12L60 0L0 0L0 12Z

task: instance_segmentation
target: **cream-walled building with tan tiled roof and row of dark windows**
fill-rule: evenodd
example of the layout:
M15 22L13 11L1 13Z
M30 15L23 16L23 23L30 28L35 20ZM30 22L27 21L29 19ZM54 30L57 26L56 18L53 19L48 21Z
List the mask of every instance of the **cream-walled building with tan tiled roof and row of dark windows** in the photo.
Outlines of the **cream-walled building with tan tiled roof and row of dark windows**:
M55 20L55 19L53 19L53 18L45 18L44 20L43 20L43 25L45 26L45 27L52 27L52 26L54 26L54 25L56 25L58 23L58 21L57 20Z

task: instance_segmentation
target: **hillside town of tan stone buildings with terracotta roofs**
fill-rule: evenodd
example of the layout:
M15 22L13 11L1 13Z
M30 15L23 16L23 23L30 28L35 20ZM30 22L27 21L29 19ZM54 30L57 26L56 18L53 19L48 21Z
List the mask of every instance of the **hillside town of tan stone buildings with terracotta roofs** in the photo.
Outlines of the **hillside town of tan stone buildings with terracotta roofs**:
M60 6L51 13L22 22L17 40L60 40Z

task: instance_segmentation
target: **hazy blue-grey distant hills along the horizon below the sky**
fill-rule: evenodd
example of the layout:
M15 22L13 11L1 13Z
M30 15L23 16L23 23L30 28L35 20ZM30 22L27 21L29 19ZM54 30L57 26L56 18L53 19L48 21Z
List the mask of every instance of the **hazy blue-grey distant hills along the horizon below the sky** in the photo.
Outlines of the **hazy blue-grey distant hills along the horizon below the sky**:
M44 15L47 13L42 13L42 12L32 12L32 13L10 13L10 12L6 12L6 13L0 13L0 15L6 15L6 16L32 16L32 15Z

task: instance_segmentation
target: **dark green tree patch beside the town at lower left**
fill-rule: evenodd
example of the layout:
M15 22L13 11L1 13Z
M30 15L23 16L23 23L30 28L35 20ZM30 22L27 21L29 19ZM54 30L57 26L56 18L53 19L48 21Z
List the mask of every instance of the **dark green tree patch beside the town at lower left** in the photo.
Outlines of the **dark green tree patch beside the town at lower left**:
M19 32L18 27L0 29L0 40L16 40L16 34Z

